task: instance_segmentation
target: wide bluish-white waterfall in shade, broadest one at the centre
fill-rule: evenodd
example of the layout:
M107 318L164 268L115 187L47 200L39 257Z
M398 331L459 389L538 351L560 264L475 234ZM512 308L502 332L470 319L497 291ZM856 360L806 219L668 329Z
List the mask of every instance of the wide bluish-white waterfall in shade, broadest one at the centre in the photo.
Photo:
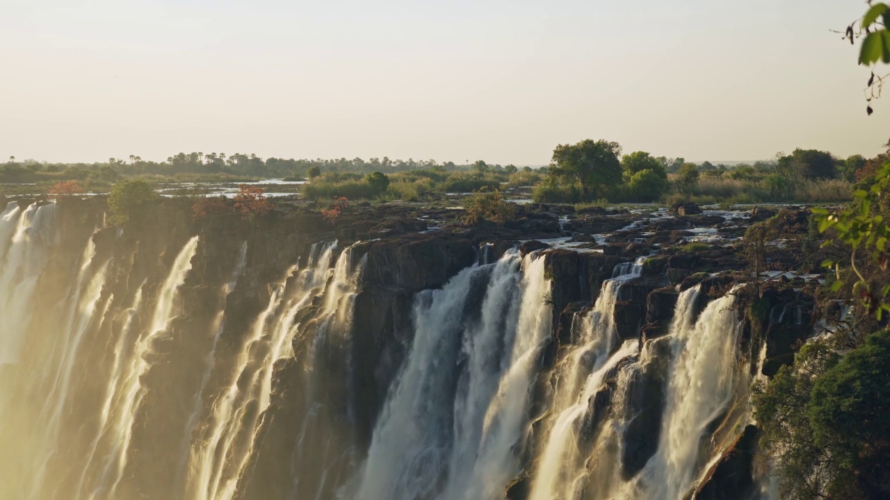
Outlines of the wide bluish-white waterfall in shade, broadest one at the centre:
M513 251L417 297L409 359L376 425L355 498L503 491L519 466L514 450L526 439L530 385L551 327L544 274L543 258Z

